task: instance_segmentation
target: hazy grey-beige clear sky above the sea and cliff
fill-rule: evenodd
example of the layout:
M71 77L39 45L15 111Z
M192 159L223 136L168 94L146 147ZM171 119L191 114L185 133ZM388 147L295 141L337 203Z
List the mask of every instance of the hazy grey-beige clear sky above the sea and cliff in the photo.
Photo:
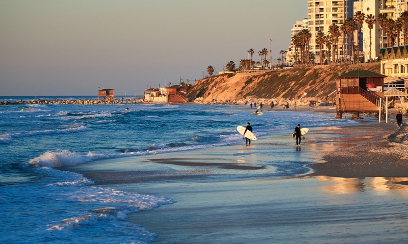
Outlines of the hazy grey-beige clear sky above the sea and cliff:
M0 96L140 95L272 58L307 17L305 0L0 1ZM269 57L268 57L269 59ZM274 61L272 60L272 63Z

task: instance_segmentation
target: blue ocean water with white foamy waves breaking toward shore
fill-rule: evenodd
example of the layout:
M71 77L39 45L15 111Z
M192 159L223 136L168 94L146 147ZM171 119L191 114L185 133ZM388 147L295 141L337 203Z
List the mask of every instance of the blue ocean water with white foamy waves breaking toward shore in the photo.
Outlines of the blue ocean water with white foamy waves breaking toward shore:
M0 101L20 99L34 98L1 97ZM130 110L125 110L126 107ZM293 130L298 123L310 129L357 124L311 111L265 111L262 116L253 116L249 115L248 107L0 106L0 242L155 241L155 233L126 222L127 214L172 204L174 200L93 186L90 179L55 169L58 166L120 157L134 157L137 161L142 155L165 156L177 151L242 143L236 127L245 126L248 121L258 137ZM279 163L274 166L287 167ZM285 172L296 175L299 168L288 168ZM268 177L282 176L272 174Z

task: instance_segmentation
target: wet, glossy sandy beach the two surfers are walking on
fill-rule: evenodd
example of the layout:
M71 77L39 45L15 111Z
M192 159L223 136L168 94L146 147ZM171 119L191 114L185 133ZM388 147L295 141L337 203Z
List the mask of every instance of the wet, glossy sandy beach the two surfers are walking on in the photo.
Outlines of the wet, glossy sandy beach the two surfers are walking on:
M297 110L306 109L311 108ZM127 219L157 233L158 243L403 243L408 238L408 131L406 123L398 129L392 116L389 124L363 119L359 126L310 131L301 148L277 134L251 147L149 155L137 162L101 160L65 169L95 185L176 201ZM284 159L290 164L307 164L306 173L269 178L268 172L276 172L268 163L283 160L282 150L293 151ZM251 174L261 178L247 179Z

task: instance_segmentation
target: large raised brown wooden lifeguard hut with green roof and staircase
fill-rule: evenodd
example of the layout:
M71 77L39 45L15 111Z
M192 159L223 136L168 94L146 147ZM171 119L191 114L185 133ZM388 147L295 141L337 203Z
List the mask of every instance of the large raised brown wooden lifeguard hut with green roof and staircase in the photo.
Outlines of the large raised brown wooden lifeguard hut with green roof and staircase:
M336 77L336 108L338 118L343 113L360 117L362 112L384 112L384 78L371 71L351 71Z

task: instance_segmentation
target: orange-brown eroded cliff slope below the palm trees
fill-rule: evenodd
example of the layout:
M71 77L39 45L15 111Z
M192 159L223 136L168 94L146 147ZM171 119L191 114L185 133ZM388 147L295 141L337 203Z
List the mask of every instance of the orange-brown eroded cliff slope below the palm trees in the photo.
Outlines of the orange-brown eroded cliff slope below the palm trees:
M379 73L379 69L379 63L372 63L223 74L196 81L187 96L198 98L202 103L289 100L299 99L303 93L307 93L307 97L325 99L336 89L335 77L353 70Z

